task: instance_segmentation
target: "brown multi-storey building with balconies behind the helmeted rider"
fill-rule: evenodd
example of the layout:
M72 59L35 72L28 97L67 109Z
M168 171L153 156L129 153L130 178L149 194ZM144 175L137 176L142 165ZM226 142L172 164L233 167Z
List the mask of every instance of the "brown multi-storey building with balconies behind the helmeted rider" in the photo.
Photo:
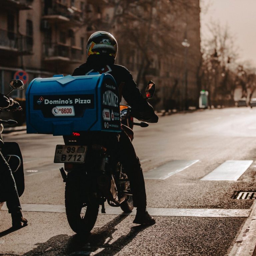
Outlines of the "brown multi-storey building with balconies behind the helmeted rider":
M116 63L131 70L138 86L142 89L145 79L156 82L158 109L184 108L185 101L188 105L196 105L197 73L201 63L199 0L2 0L1 2L0 90L2 93L7 93L8 83L18 70L27 72L28 83L35 77L72 74L74 68L86 60L88 37L95 31L105 30L112 33L118 41ZM165 16L162 15L161 19L158 12L160 10L164 12L167 8L170 11L165 13ZM152 18L151 23L145 23L150 24L148 31L141 28L145 25L141 23L141 17ZM172 24L172 29L161 32L164 28L158 29L161 22ZM160 32L163 37L168 34L168 40L171 42L171 46L168 46L164 54L147 47L147 56L150 58L144 67L141 65L145 62L143 52L137 49L136 44L129 46L130 41L123 36L126 30L132 31L136 28L141 29L140 40L145 44L149 40L147 33L150 34L151 31L155 35L159 33L158 38L161 38ZM152 38L151 40L154 40ZM184 46L184 42L188 42L187 46ZM166 42L159 43L158 47L162 49L165 47L164 44ZM24 98L25 90L17 91L13 96Z

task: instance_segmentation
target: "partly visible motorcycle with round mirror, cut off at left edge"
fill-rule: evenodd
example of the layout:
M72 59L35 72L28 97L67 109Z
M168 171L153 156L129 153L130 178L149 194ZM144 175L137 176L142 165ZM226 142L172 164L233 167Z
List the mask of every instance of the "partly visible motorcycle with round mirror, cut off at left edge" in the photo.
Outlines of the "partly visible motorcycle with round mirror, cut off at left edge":
M12 90L4 95L5 100L0 102L0 114L3 111L21 111L22 108L18 102L14 101L12 98L8 97L13 90L22 90L24 84L21 80L14 79L9 83ZM18 143L16 142L3 142L2 132L4 129L3 124L14 125L17 124L14 120L1 120L0 119L0 151L9 164L12 174L16 183L17 191L19 197L23 194L25 184L24 184L24 171L23 171L23 161L22 155ZM0 209L6 201L6 193L4 188L0 185Z

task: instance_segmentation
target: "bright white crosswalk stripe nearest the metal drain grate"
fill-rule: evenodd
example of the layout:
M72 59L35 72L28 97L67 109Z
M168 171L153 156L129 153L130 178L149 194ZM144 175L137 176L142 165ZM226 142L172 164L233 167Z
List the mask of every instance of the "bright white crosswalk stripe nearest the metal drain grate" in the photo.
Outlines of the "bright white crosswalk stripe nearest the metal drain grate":
M253 160L229 160L218 166L201 180L238 180L252 163Z

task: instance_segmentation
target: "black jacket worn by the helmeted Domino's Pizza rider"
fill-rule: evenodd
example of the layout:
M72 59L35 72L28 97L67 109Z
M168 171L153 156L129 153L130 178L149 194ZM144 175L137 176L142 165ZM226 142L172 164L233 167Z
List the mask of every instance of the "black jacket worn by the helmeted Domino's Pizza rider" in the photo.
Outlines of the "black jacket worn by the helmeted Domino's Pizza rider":
M157 123L158 116L155 114L153 107L142 97L127 68L114 64L112 57L101 58L98 55L91 55L86 63L74 70L72 76L88 75L91 72L112 75L118 87L122 84L122 96L132 107L132 116L142 121Z

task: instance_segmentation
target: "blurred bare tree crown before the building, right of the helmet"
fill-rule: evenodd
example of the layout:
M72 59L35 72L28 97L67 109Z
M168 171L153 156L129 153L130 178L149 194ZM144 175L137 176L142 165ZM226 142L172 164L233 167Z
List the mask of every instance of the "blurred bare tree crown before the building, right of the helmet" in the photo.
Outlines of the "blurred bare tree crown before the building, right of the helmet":
M145 85L150 68L151 72L157 73L161 65L160 59L171 58L175 48L180 47L176 45L177 40L174 40L179 29L175 16L179 14L182 9L180 5L184 5L184 2L186 1L116 1L118 7L114 9L112 24L116 24L115 35L120 48L125 49L120 60L123 62L122 58L137 56L138 85Z

